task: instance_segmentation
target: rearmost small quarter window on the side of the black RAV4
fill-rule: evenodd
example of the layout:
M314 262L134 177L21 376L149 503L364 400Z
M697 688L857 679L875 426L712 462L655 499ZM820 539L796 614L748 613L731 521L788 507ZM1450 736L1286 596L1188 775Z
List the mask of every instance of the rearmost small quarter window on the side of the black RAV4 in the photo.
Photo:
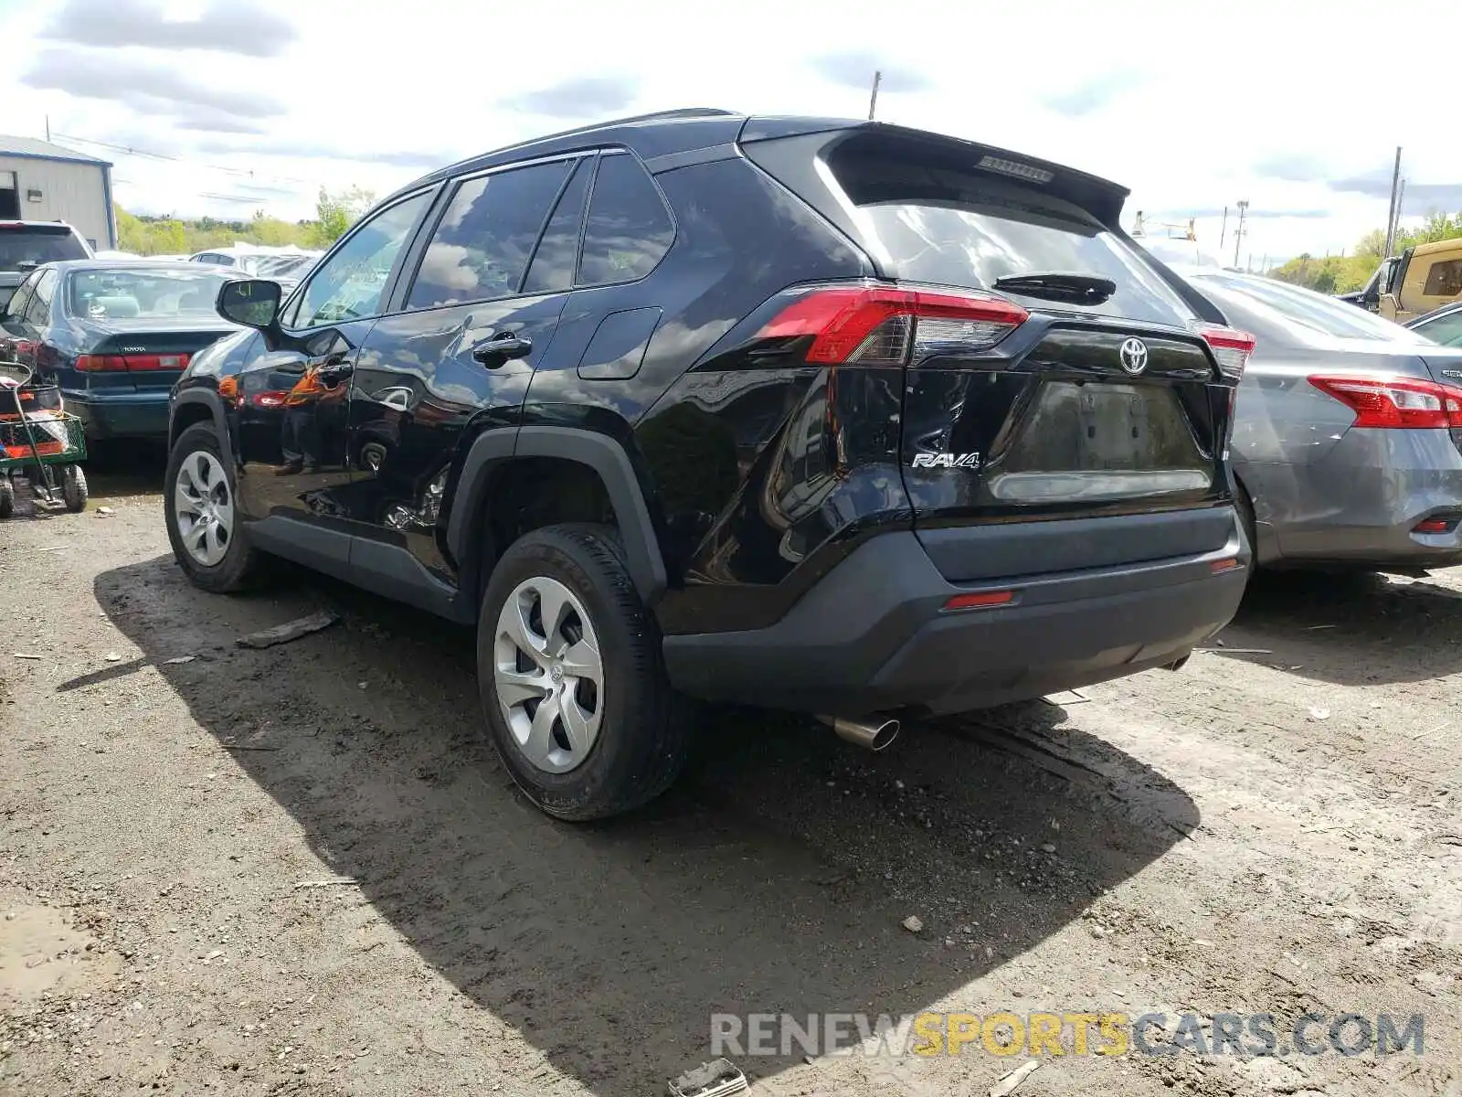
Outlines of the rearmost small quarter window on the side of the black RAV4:
M579 285L632 282L655 269L675 238L659 189L629 155L605 157L594 180Z

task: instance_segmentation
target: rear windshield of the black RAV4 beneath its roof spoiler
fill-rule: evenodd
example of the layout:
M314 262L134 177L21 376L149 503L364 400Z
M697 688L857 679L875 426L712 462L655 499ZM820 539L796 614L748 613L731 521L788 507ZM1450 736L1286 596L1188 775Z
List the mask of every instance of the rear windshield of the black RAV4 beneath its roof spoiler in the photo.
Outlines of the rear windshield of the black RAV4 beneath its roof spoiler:
M835 158L833 173L858 206L866 243L882 249L901 278L993 288L1007 275L1095 275L1117 285L1101 304L1000 293L1045 312L1174 326L1193 319L1140 255L1079 206L1038 187L871 157Z

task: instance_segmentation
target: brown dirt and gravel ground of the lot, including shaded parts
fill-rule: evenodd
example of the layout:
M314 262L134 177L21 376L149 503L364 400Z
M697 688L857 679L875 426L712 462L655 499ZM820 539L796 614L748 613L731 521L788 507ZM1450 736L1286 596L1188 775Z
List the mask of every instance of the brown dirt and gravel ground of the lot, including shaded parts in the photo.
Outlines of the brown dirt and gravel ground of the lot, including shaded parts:
M159 475L0 525L0 1093L632 1097L713 1011L934 1008L1421 1014L1421 1056L1045 1056L1018 1093L1462 1097L1462 572L1268 578L1181 673L883 755L708 711L671 796L569 826L477 739L466 632L192 589ZM754 1094L1023 1062L789 1050L738 1059Z

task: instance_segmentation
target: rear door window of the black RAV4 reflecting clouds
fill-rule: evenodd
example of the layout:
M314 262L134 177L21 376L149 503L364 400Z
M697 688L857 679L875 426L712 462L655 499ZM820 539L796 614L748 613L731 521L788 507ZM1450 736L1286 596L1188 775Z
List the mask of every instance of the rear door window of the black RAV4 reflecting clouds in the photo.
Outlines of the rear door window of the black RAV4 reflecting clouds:
M558 161L463 181L431 237L406 307L516 294L570 167Z

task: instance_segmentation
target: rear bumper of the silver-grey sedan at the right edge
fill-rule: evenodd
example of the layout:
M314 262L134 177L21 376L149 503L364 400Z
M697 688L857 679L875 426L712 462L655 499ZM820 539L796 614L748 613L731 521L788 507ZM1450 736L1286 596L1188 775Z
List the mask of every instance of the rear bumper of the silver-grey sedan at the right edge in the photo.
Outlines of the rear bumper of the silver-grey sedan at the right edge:
M1270 525L1278 557L1265 563L1450 568L1462 529L1415 534L1462 510L1462 449L1446 430L1349 430L1308 465L1238 468Z

